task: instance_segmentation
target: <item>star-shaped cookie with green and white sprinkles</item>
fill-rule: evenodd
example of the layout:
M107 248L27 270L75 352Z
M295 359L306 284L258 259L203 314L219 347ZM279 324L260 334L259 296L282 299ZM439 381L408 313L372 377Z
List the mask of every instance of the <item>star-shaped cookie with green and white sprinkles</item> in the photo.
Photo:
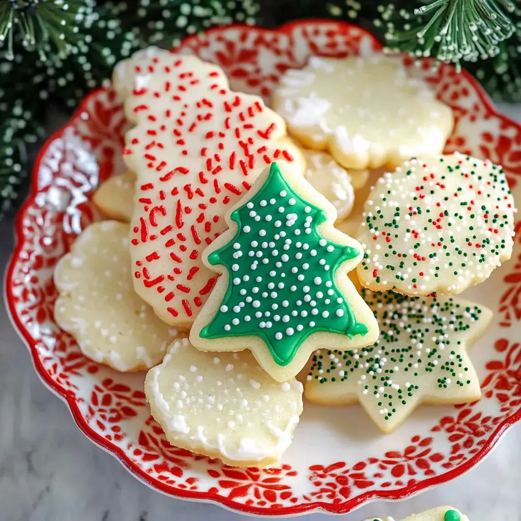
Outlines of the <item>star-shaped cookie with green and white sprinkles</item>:
M466 353L488 327L492 312L450 295L411 297L362 289L380 327L374 345L317 351L305 383L315 403L359 402L384 432L419 403L478 400L476 371Z

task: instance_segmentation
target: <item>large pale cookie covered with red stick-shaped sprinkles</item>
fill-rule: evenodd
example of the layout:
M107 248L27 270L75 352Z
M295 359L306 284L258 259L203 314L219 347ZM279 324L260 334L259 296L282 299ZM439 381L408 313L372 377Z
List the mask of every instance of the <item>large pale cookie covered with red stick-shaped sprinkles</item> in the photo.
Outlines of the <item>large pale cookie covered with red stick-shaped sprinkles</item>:
M124 71L124 72L122 72ZM229 90L224 72L194 56L156 49L117 68L125 111L125 160L137 173L130 254L134 289L165 322L189 326L216 275L204 247L222 216L272 160L304 162L282 141L286 125L257 96Z

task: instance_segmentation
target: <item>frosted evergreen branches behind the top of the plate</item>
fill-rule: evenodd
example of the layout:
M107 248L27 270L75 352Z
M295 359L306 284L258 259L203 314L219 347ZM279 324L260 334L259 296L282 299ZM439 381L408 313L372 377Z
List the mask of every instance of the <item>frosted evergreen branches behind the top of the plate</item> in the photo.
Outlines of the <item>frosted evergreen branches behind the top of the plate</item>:
M117 61L233 22L358 23L390 50L450 61L498 100L521 101L519 0L0 0L0 215L27 175L49 102L76 107Z

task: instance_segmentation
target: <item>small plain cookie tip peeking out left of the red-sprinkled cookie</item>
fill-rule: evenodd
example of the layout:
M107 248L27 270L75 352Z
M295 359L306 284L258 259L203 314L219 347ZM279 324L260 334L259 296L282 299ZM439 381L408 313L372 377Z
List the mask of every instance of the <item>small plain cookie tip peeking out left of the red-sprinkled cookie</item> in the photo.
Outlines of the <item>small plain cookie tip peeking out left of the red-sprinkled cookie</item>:
M134 209L134 183L134 172L119 173L101 184L92 200L107 219L130 222Z

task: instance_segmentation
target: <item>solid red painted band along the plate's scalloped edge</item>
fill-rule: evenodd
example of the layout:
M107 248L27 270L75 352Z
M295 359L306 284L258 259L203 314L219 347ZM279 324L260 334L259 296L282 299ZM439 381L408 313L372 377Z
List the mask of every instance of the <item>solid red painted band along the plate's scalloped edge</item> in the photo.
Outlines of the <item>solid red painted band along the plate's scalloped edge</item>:
M331 20L325 20L325 19L304 19L304 20L295 20L288 22L282 26L280 26L277 29L263 29L263 28L255 28L258 31L261 31L265 34L280 34L280 33L288 33L290 34L295 28L299 27L305 27L309 23L324 23L328 24L332 27L337 27L344 30L349 30L350 28L356 27L358 30L364 32L367 36L369 36L371 39L375 39L375 36L371 34L369 31L360 28L358 26L355 26L354 24L345 23L345 22L338 22L338 21L331 21ZM215 27L212 29L209 29L206 31L206 33L214 33L219 32L222 29L230 29L230 28L237 28L237 29L251 29L252 26L246 26L244 24L233 24L232 26L226 26L226 27ZM186 44L190 42L191 40L197 38L197 35L191 35L188 36L184 41L183 44ZM472 84L473 88L475 89L476 93L478 94L478 97L480 98L480 101L483 103L483 105L486 106L488 112L490 115L499 118L505 123L508 123L508 125L513 125L517 127L518 132L521 134L521 125L517 123L516 121L508 118L507 116L504 116L501 114L497 108L495 108L492 100L488 96L488 94L482 89L481 85L478 83L478 81L471 76L468 72L465 70L462 70L461 74L465 77L467 81ZM228 510L231 510L233 512L241 512L244 514L250 514L250 515L256 515L256 516L266 516L266 517L278 517L278 516L294 516L294 515L300 515L300 514L306 514L306 513L327 513L327 514L346 514L349 512L352 512L355 510L355 508L362 506L366 502L375 501L375 500L387 500L387 501L398 501L402 499L406 499L408 497L411 497L414 494L417 494L419 492L423 492L430 487L434 487L436 485L442 485L443 483L446 483L458 476L461 476L467 470L470 470L474 466L476 466L478 463L480 463L485 456L487 456L491 450L494 448L495 444L499 441L501 436L505 433L505 431L512 427L517 421L521 419L521 410L514 413L512 416L505 418L498 427L494 430L492 435L488 438L487 442L481 447L479 452L477 452L473 457L469 458L464 464L453 468L452 470L449 470L448 472L445 472L443 474L440 474L438 476L433 476L432 478L427 478L418 481L412 486L406 486L398 490L380 490L380 491L368 491L362 494L359 494L357 497L352 498L350 500L344 501L342 503L336 503L336 504L330 504L330 503L323 503L321 501L315 501L312 503L305 503L302 505L294 505L291 507L281 507L278 508L276 511L267 511L264 508L255 507L255 506L248 506L241 503L235 503L233 500L230 500L229 498L226 498L224 496L215 495L215 494L208 494L207 492L197 492L197 491L190 491L190 490L183 490L183 489L177 489L175 493L171 493L171 491L167 491L166 488L162 486L162 483L156 482L150 479L150 477L143 472L139 467L134 465L132 461L129 460L129 458L126 456L126 454L119 449L117 446L111 445L107 440L99 436L95 431L93 431L88 424L85 423L84 418L81 415L81 412L78 408L78 405L75 400L75 396L71 391L67 391L65 388L60 387L56 382L54 382L52 379L48 377L47 372L44 370L40 359L38 357L38 348L36 347L36 343L34 339L31 337L29 331L23 327L21 324L20 319L16 315L15 311L15 300L12 292L12 282L13 282L13 271L15 267L15 262L18 259L18 256L21 251L21 247L23 244L23 228L22 228L22 219L24 214L26 213L26 209L34 202L35 196L38 193L38 172L40 169L40 162L44 155L44 153L47 150L47 147L56 139L60 138L61 135L64 133L65 129L70 125L70 122L78 117L78 115L85 110L86 105L88 104L91 97L95 96L99 91L103 90L103 88L95 89L94 91L90 92L88 95L86 95L83 100L81 100L78 108L75 110L73 115L70 117L70 119L67 121L67 123L58 129L56 132L54 132L51 137L49 137L44 145L42 146L40 152L38 153L38 156L35 159L32 173L31 173L31 189L29 192L29 195L26 199L26 201L23 203L23 205L20 207L18 214L16 216L15 220L15 248L13 250L13 253L11 254L9 258L9 262L7 264L5 277L4 277L4 299L6 303L6 310L7 314L11 320L11 323L15 326L15 330L17 331L19 337L22 339L22 341L26 344L27 348L29 349L34 368L36 370L36 373L42 380L42 382L45 384L45 386L51 390L53 393L55 393L58 398L62 399L64 402L66 402L70 413L72 414L72 417L74 418L76 425L79 427L79 429L83 432L83 434L88 437L93 443L95 443L97 446L105 450L107 453L113 455L116 457L123 466L133 474L135 477L137 477L140 481L145 483L150 488L153 488L159 492L162 492L163 494L178 498L178 499L184 499L184 500L192 500L192 501L203 501L207 503L214 503L219 506L224 506Z

